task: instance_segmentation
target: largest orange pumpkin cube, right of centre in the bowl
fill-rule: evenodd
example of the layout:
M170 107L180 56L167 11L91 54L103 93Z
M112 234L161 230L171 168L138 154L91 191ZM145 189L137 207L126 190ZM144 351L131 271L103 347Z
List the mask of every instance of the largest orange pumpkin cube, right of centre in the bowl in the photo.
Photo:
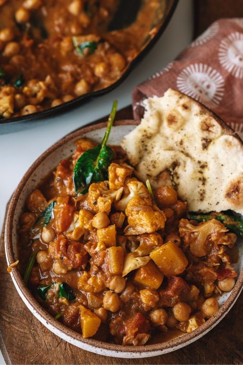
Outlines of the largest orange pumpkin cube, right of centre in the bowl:
M183 273L188 264L183 251L174 242L155 248L150 257L167 277Z

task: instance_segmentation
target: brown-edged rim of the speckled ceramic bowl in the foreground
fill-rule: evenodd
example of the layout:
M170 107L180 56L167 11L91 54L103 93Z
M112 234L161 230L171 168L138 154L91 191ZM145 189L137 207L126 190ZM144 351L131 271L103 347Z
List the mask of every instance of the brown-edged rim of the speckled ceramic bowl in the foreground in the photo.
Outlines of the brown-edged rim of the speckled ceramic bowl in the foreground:
M114 123L115 126L124 126L124 125L138 125L139 121L134 120L122 120L117 121ZM80 138L84 133L104 128L106 127L106 123L98 123L98 124L92 124L89 126L81 127L73 132L69 133L64 138L58 140L55 142L51 147L49 147L46 151L42 153L35 161L34 163L29 167L29 169L26 171L25 175L23 176L22 180L19 182L18 186L16 187L7 209L6 214L6 224L5 224L5 254L7 258L8 265L10 263L13 263L15 261L14 253L13 253L13 246L12 246L12 228L13 228L13 216L15 212L15 208L17 205L18 198L21 196L23 187L25 186L26 181L29 179L31 174L34 172L34 170L42 164L42 162L57 148L65 145L67 142L75 139ZM221 305L219 310L216 312L216 314L209 318L204 324L199 326L196 330L194 330L191 333L182 334L179 337L175 337L173 339L170 339L165 342L160 342L156 344L148 344L148 345L139 345L139 346L129 346L129 345L118 345L103 341L98 341L92 338L84 339L81 334L69 329L64 324L60 323L58 320L54 319L51 315L48 314L48 312L34 299L31 292L28 290L27 286L24 284L24 281L21 277L21 274L19 273L18 269L16 267L12 268L11 271L11 277L14 282L14 285L16 286L16 289L21 296L22 300L23 297L25 298L24 302L26 301L30 304L32 308L32 314L37 312L38 316L42 317L43 321L42 323L45 325L50 324L52 328L54 327L58 333L62 333L65 336L69 337L68 341L73 343L75 342L82 342L84 344L89 345L91 348L97 348L100 351L107 350L111 352L115 352L116 354L119 353L133 353L134 355L137 353L150 353L150 354L157 354L162 352L169 352L174 351L178 348L184 347L185 345L195 341L196 339L202 337L207 332L209 332L222 318L225 317L225 315L229 312L229 310L232 308L233 304L235 303L236 299L240 295L240 292L243 287L243 268L238 276L238 279L235 283L235 286L228 297L228 299L225 301L224 304ZM23 297L22 297L23 296ZM29 308L29 307L28 307ZM34 314L35 315L35 314ZM38 318L38 317L37 317ZM39 319L39 318L38 318ZM52 331L53 332L53 331ZM59 336L60 337L60 336ZM171 350L170 350L171 349ZM90 351L90 350L89 350ZM153 355L150 355L153 356Z

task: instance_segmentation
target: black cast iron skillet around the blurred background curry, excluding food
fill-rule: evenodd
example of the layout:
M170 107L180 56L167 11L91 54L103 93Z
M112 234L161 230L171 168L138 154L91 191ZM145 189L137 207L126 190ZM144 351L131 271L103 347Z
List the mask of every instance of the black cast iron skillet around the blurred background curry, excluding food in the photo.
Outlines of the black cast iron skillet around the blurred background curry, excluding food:
M134 0L130 0L130 1L134 1ZM110 86L108 86L104 89L89 92L89 93L84 94L80 97L77 97L73 100L70 100L69 102L57 105L55 107L52 107L52 108L49 108L49 109L46 109L46 110L37 111L36 113L28 114L26 116L21 116L21 117L0 119L0 133L16 130L15 129L16 124L19 124L21 122L26 122L28 120L37 120L37 119L49 116L50 114L54 114L54 113L57 114L59 112L62 112L64 110L68 110L68 109L73 108L75 106L80 106L82 103L85 103L85 102L87 102L87 101L91 100L92 98L97 97L99 95L103 95L103 94L113 90L118 85L120 85L127 78L129 73L131 72L132 68L139 61L141 61L141 59L143 59L145 54L147 54L150 51L150 49L154 46L156 41L159 39L160 35L164 32L167 25L169 24L169 21L171 19L172 14L174 13L174 10L175 10L175 8L178 4L178 1L179 0L160 0L161 6L163 6L164 2L166 2L166 7L165 7L165 12L163 14L156 14L154 22L151 25L151 29L155 28L156 31L151 32L151 34L148 34L148 36L146 37L143 45L141 46L141 51L129 63L128 67L126 68L126 70L122 74L122 76L120 76L120 78L117 81L115 81L113 84L111 84ZM126 23L126 22L131 23L131 21L128 20L126 14L125 14L124 17L119 16L119 18L122 18L124 23ZM118 20L118 18L117 18L117 20ZM113 24L114 23L117 23L117 21L114 20ZM111 27L113 28L114 26L111 24ZM122 24L119 24L118 27L122 28L123 26L122 26Z

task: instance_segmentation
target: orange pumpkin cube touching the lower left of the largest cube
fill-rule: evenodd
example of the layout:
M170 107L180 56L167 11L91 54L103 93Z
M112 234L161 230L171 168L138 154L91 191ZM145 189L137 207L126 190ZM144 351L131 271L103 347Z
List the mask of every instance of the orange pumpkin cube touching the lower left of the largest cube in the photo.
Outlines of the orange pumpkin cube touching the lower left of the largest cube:
M145 266L138 268L135 272L133 280L146 287L158 289L164 279L164 274L158 269L151 260Z

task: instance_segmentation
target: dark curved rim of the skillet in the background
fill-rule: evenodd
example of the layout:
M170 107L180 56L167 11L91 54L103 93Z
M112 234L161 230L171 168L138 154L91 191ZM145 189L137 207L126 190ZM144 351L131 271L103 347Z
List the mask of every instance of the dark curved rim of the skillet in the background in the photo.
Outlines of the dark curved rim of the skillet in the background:
M73 108L77 107L78 105L80 105L80 103L88 102L92 98L99 97L100 95L106 94L106 93L112 91L113 89L115 89L117 86L122 84L127 79L129 74L131 73L132 69L141 60L143 60L146 53L148 53L153 48L155 43L158 41L159 37L164 33L164 31L166 30L166 28L172 18L172 15L174 14L174 11L178 5L178 2L179 2L179 0L166 0L167 6L168 6L168 3L169 3L169 6L168 6L168 9L167 8L165 9L165 14L161 18L161 24L158 27L156 34L152 37L152 39L148 42L148 44L144 48L141 49L141 51L136 55L136 57L134 57L134 59L125 68L124 72L119 77L119 79L117 79L114 83L112 83L111 85L109 85L103 89L88 92L84 95L81 95L80 97L76 97L68 102L65 102L60 105L56 105L54 107L50 107L48 109L40 110L40 111L37 111L32 114L26 114L25 116L0 119L0 128L1 128L1 126L6 126L6 125L10 126L12 124L15 125L15 123L26 122L29 120L41 121L42 118L46 118L46 117L52 116L53 114L59 114L61 112L65 112L67 110L73 109ZM167 11L167 14L166 14L166 11Z

